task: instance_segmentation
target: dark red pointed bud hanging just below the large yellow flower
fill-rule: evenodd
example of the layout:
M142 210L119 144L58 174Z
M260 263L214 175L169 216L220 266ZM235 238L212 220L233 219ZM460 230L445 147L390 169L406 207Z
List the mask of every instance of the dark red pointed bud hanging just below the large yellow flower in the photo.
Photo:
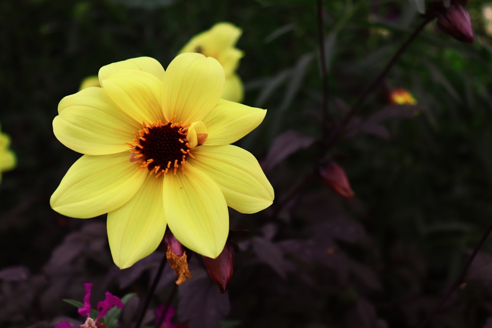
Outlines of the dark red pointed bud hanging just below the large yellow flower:
M210 277L217 284L220 293L224 294L234 270L234 248L227 242L216 259L206 256L202 258Z

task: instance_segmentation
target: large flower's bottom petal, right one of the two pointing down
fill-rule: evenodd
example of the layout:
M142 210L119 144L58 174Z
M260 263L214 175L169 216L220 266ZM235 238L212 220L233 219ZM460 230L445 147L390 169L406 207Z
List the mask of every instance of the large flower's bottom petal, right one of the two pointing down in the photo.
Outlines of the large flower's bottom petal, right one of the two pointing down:
M167 224L184 246L216 258L229 234L229 213L224 196L217 184L199 169L186 163L184 170L185 174L178 171L178 174L168 173L164 178Z

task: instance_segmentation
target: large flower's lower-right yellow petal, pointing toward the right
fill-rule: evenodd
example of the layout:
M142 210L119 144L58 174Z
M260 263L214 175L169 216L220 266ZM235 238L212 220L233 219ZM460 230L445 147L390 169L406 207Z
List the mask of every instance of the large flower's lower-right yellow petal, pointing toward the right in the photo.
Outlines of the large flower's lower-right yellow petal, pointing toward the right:
M186 161L186 173L196 167L212 178L227 206L241 213L255 213L272 205L274 189L256 158L245 149L226 145L200 146Z

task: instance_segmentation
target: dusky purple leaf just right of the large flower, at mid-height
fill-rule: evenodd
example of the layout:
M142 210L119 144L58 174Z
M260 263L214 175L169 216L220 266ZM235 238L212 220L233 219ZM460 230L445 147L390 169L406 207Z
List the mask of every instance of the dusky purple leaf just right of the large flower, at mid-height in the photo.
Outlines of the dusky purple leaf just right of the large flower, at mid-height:
M314 142L314 138L295 130L288 130L280 134L268 150L262 162L265 171L273 169L278 163L300 149L305 149Z

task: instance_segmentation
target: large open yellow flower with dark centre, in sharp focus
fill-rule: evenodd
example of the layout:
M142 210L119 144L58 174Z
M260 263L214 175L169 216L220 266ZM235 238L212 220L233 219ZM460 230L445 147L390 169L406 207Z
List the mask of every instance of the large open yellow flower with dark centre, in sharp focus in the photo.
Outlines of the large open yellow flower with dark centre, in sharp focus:
M230 145L266 110L220 99L224 70L186 53L164 69L149 57L99 70L101 88L66 96L55 136L84 155L51 196L71 217L108 213L113 260L128 268L151 254L166 226L189 249L215 258L229 232L227 207L254 213L274 190L258 161Z

